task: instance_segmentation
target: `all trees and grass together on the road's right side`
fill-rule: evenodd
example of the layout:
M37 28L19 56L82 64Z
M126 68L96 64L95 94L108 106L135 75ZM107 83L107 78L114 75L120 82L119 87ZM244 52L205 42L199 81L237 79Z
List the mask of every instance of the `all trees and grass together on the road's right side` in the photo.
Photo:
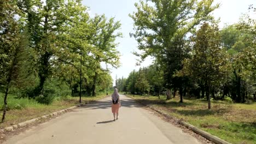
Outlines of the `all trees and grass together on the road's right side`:
M130 14L138 64L116 81L141 103L231 143L256 141L255 5L219 27L214 1L141 1ZM130 96L131 96L130 95Z

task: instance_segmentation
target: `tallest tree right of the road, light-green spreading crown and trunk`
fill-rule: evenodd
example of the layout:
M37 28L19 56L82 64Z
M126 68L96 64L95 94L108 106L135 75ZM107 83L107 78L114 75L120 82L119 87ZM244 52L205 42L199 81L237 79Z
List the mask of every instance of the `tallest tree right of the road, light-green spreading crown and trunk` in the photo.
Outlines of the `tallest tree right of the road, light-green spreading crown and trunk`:
M184 56L183 40L202 21L212 20L210 13L218 8L213 0L150 0L135 3L137 12L130 17L135 21L135 32L131 33L138 42L141 54L136 53L142 61L153 56L165 69L165 77L170 77L166 87L179 87L182 102L182 77L173 77L175 71L182 69ZM168 59L171 56L177 59ZM166 64L168 63L168 65ZM168 73L166 73L168 72ZM176 86L177 85L177 86Z

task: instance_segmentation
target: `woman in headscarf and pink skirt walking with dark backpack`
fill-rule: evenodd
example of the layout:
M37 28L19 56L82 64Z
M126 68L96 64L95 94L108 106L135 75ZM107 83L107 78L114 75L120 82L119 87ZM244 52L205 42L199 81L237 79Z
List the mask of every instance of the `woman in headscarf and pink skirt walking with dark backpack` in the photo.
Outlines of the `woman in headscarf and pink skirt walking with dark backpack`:
M118 119L119 107L121 107L119 93L118 93L118 89L115 88L114 93L112 94L112 113L113 113L113 116L114 116L114 121L116 120L115 119L116 115L117 115L117 119Z

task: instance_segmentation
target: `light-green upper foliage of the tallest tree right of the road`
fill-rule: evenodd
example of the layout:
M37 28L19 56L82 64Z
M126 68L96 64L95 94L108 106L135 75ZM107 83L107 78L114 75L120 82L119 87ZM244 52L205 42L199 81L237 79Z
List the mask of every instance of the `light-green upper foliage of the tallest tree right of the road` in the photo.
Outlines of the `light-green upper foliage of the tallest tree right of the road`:
M211 20L210 13L218 8L213 1L150 0L135 3L136 12L130 14L135 21L138 49L143 50L142 60L154 56L159 61L172 45L176 35L185 36L201 21ZM135 53L139 56L138 53Z

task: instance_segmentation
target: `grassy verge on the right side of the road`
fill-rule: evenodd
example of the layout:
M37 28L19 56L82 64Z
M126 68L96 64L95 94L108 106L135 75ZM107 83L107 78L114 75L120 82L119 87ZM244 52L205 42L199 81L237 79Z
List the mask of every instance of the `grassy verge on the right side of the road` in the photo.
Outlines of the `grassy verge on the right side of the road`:
M132 95L128 95L132 97ZM256 103L229 104L213 101L207 109L207 101L179 98L166 101L166 97L144 97L136 95L140 103L152 105L169 115L183 118L197 128L216 135L231 143L256 143Z

